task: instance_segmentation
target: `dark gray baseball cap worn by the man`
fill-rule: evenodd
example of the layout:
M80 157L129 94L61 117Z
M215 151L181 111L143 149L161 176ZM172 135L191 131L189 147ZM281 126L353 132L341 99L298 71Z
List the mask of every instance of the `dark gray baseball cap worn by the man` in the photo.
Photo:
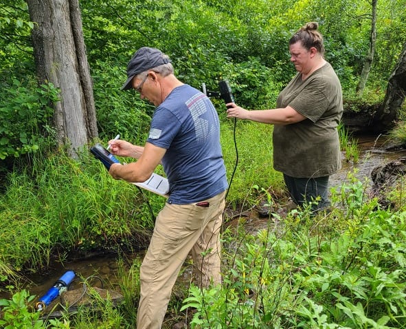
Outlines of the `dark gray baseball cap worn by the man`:
M162 51L156 48L141 47L139 48L133 58L127 65L127 81L121 87L121 90L128 90L133 88L131 82L135 75L153 69L162 64L170 63L169 58L164 58Z

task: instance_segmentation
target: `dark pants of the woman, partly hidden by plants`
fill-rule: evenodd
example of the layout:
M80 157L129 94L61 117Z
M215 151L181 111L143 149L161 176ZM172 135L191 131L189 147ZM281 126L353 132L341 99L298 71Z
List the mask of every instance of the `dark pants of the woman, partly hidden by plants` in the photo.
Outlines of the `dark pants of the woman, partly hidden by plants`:
M313 210L320 210L330 206L330 201L328 199L329 176L318 178L294 178L283 174L283 177L289 194L297 206L302 207L304 204L316 201L316 197L320 197L321 199L318 201L317 205L312 205Z

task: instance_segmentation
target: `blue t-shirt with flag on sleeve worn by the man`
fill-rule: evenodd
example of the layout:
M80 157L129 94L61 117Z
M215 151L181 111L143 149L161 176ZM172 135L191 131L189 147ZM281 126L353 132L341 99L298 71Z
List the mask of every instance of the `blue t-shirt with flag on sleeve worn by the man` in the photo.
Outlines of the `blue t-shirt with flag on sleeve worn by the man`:
M166 149L163 170L171 204L190 204L227 189L218 114L210 99L183 84L159 105L148 143Z

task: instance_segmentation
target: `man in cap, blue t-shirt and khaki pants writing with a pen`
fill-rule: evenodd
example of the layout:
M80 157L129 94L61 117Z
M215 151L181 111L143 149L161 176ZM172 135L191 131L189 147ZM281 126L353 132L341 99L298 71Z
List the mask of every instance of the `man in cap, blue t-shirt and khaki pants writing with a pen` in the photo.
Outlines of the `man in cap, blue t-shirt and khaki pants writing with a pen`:
M112 154L138 159L113 164L115 179L144 182L163 165L170 195L155 222L141 265L137 328L161 328L174 282L189 252L196 284L221 283L219 234L227 178L218 114L210 99L174 76L170 59L142 47L127 66L122 90L134 88L157 108L144 147L109 141Z

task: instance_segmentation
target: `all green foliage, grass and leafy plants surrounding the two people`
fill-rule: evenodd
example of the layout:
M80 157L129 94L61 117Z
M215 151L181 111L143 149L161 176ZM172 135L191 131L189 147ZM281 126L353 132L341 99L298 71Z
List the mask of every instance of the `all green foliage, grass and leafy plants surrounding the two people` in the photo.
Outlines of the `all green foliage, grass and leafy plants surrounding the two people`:
M404 1L379 3L378 38L370 80L361 99L353 99L368 49L368 1L81 1L84 38L94 83L99 136L120 133L144 143L153 106L122 92L126 64L144 45L172 58L177 76L196 88L216 91L229 80L238 104L272 108L295 74L288 40L306 21L318 21L326 59L337 71L346 110L373 108L383 99L387 77L405 40ZM0 158L21 160L0 197L0 281L12 270L46 267L55 252L96 247L120 249L145 244L153 226L148 207L130 184L112 180L97 160L83 151L69 159L63 149L49 156L38 151L55 144L52 103L56 88L34 86L30 23L25 1L0 5ZM282 175L272 169L270 125L225 119L223 101L213 99L221 117L221 143L230 179L227 202L242 208L283 197ZM351 138L342 131L341 145ZM355 143L346 149L356 160ZM37 150L37 151L36 151ZM34 152L36 151L36 152ZM34 155L32 153L34 152ZM44 156L44 157L43 157ZM17 162L16 162L17 163ZM3 165L3 164L2 164ZM273 191L269 192L269 186ZM249 191L249 192L247 192ZM398 194L396 194L398 193ZM402 188L393 198L401 200ZM164 199L148 199L157 212ZM223 287L190 288L185 306L197 313L194 328L406 328L405 215L365 202L365 184L350 177L332 198L331 215L311 219L296 210L269 223L268 230L224 239ZM399 207L401 209L401 206ZM276 215L275 215L276 216ZM135 241L139 239L139 241ZM235 247L234 249L232 247ZM75 328L117 328L135 324L139 264L122 273L126 302L118 314L103 304L98 315L82 313ZM9 284L8 289L13 289ZM21 293L0 301L10 328L39 328ZM12 304L14 303L14 304ZM120 318L122 315L126 319ZM69 319L49 321L69 328ZM38 324L37 324L38 323ZM45 325L45 324L44 324ZM47 324L46 324L47 325ZM5 327L7 328L7 327Z

